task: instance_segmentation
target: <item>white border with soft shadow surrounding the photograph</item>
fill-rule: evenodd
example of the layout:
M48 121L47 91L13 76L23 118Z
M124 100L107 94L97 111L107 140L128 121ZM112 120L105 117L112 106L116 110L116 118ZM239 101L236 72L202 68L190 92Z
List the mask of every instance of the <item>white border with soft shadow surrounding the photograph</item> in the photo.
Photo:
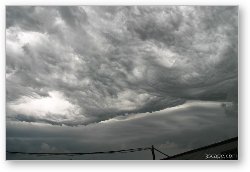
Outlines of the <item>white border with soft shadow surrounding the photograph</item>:
M1 29L1 61L0 61L0 107L1 107L1 142L0 142L0 169L1 171L249 171L250 161L248 153L250 145L248 124L249 111L247 98L250 97L249 76L250 56L247 51L250 45L250 1L247 0L2 0L0 2L0 29ZM5 161L5 6L6 5L239 5L239 160L238 161Z

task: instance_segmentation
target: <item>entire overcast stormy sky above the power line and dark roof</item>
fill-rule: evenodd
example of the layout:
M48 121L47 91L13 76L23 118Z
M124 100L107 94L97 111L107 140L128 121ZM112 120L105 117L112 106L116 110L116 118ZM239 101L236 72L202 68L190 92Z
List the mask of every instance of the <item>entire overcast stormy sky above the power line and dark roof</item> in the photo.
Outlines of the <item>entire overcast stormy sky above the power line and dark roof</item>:
M7 6L7 150L174 155L235 137L237 66L237 7Z

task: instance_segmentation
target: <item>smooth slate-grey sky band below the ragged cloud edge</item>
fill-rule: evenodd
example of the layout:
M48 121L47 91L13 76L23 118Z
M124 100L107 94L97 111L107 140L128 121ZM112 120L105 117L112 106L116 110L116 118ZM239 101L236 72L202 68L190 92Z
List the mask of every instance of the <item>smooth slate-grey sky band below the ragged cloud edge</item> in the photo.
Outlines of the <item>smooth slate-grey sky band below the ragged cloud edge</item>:
M235 119L227 117L218 102L188 102L179 108L169 108L151 115L146 113L120 118L79 127L8 122L7 150L95 152L155 145L161 151L174 155L237 135ZM132 156L111 154L72 158L151 159L151 154L145 151L133 153Z

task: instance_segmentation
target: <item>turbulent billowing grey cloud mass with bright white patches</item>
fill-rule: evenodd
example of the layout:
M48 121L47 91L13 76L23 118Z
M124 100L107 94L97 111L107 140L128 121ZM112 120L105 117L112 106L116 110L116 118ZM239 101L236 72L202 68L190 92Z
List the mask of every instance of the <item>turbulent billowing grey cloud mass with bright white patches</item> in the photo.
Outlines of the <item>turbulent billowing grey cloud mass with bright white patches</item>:
M7 120L82 125L186 100L237 110L237 7L6 8Z

